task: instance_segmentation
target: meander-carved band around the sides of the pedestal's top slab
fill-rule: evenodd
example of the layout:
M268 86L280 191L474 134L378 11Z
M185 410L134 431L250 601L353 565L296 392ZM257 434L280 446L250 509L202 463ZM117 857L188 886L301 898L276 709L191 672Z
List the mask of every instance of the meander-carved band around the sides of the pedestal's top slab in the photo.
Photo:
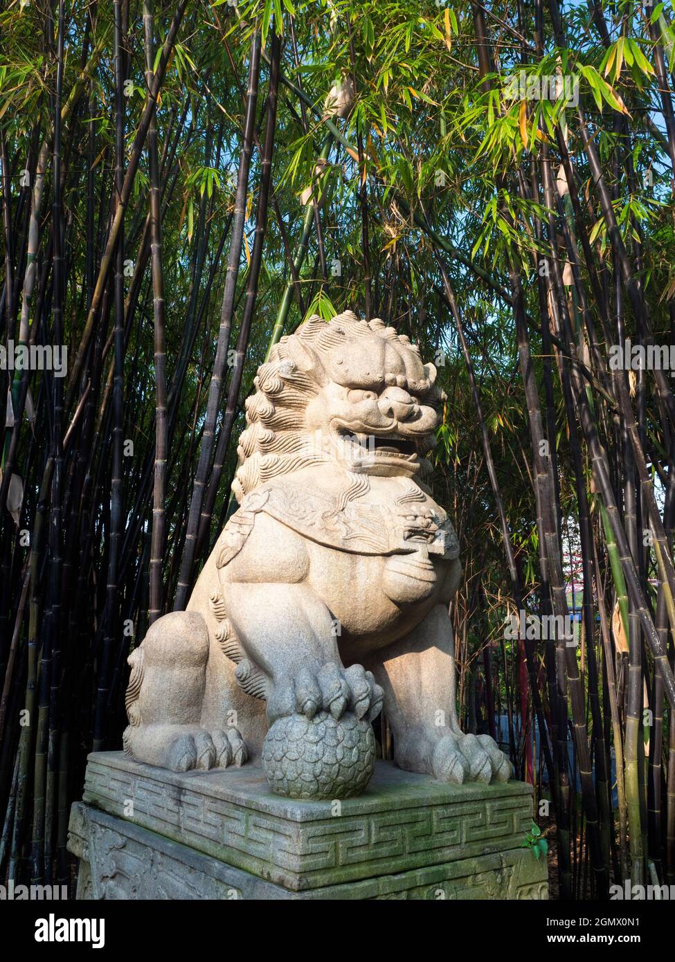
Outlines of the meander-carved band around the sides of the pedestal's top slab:
M428 865L517 848L532 811L531 797L521 795L294 823L95 763L88 766L85 799L98 799L116 815L133 799L135 823L173 837L179 832L181 841L195 848L208 842L207 850L222 847L230 859L241 852L291 873L391 864L398 858L409 864L411 856Z

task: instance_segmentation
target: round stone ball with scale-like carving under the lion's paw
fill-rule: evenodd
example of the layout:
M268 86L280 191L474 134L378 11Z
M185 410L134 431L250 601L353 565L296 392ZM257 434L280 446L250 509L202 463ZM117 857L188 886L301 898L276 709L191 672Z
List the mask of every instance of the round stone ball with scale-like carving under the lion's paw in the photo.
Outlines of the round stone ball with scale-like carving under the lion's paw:
M370 722L328 712L313 719L278 719L263 746L263 770L275 795L287 798L348 798L366 787L375 768Z

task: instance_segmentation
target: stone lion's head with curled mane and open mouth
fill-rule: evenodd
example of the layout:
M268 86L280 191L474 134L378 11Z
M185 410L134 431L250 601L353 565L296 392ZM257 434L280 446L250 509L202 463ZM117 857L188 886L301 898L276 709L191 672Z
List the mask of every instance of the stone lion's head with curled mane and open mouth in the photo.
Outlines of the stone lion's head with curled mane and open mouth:
M311 316L258 368L237 448L237 500L322 462L408 477L428 469L445 398L435 377L417 345L378 317Z

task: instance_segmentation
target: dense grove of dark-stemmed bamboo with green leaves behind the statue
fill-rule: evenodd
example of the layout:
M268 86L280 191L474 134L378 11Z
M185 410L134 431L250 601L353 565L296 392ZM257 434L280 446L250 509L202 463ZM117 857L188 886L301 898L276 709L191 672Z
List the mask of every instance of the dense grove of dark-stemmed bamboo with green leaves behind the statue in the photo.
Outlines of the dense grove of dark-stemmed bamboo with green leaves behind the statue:
M505 720L560 898L675 883L669 5L7 0L0 31L3 878L72 882L255 369L350 308L448 395L462 723Z

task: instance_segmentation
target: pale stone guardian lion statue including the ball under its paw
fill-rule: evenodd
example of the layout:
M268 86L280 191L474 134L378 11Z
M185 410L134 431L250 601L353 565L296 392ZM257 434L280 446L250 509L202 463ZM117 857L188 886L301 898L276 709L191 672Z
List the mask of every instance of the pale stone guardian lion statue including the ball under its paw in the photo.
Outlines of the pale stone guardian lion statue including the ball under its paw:
M187 611L129 658L124 750L177 772L261 757L273 792L340 798L395 762L506 780L455 711L458 544L422 480L444 395L379 319L313 316L257 373L227 521Z

